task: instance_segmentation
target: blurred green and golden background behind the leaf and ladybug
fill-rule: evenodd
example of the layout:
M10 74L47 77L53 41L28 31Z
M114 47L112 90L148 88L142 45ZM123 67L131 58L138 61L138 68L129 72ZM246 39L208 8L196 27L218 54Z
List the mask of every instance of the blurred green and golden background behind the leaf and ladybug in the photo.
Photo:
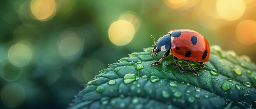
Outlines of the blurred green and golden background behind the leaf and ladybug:
M256 0L1 0L0 108L66 108L99 70L172 29L256 62L255 10Z

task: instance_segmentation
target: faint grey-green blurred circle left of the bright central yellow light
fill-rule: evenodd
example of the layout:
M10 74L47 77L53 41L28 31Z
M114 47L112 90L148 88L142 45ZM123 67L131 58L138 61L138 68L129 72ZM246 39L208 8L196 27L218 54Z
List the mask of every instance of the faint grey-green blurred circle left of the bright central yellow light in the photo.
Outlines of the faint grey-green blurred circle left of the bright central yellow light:
M58 51L65 59L73 59L83 48L83 38L72 29L64 30L58 41Z

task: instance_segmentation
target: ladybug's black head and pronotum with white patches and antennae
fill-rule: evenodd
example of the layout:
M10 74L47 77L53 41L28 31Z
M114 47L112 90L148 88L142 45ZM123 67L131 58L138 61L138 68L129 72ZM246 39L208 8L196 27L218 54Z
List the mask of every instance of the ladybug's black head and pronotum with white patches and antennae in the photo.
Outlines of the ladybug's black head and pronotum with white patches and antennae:
M162 37L160 37L157 40L157 42L155 42L155 38L152 35L151 35L151 38L153 38L154 44L155 44L154 48L152 50L153 54L151 54L151 56L154 56L154 54L156 54L156 56L157 56L157 52L166 52L167 50L169 50L171 48L171 35L170 34L163 35Z

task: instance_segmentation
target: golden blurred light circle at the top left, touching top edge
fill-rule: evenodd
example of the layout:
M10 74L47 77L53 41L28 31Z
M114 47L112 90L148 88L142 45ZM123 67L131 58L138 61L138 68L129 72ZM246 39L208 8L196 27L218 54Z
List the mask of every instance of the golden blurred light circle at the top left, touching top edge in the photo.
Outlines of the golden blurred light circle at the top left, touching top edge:
M46 21L54 16L56 3L54 0L31 0L30 9L36 20Z

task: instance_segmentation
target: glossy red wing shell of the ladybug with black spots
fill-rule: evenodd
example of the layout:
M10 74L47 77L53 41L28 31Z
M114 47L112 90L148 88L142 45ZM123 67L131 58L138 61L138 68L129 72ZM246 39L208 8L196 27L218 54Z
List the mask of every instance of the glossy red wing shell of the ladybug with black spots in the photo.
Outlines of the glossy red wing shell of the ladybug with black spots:
M210 48L203 35L189 29L171 30L168 33L171 34L171 52L175 57L197 62L209 61Z

